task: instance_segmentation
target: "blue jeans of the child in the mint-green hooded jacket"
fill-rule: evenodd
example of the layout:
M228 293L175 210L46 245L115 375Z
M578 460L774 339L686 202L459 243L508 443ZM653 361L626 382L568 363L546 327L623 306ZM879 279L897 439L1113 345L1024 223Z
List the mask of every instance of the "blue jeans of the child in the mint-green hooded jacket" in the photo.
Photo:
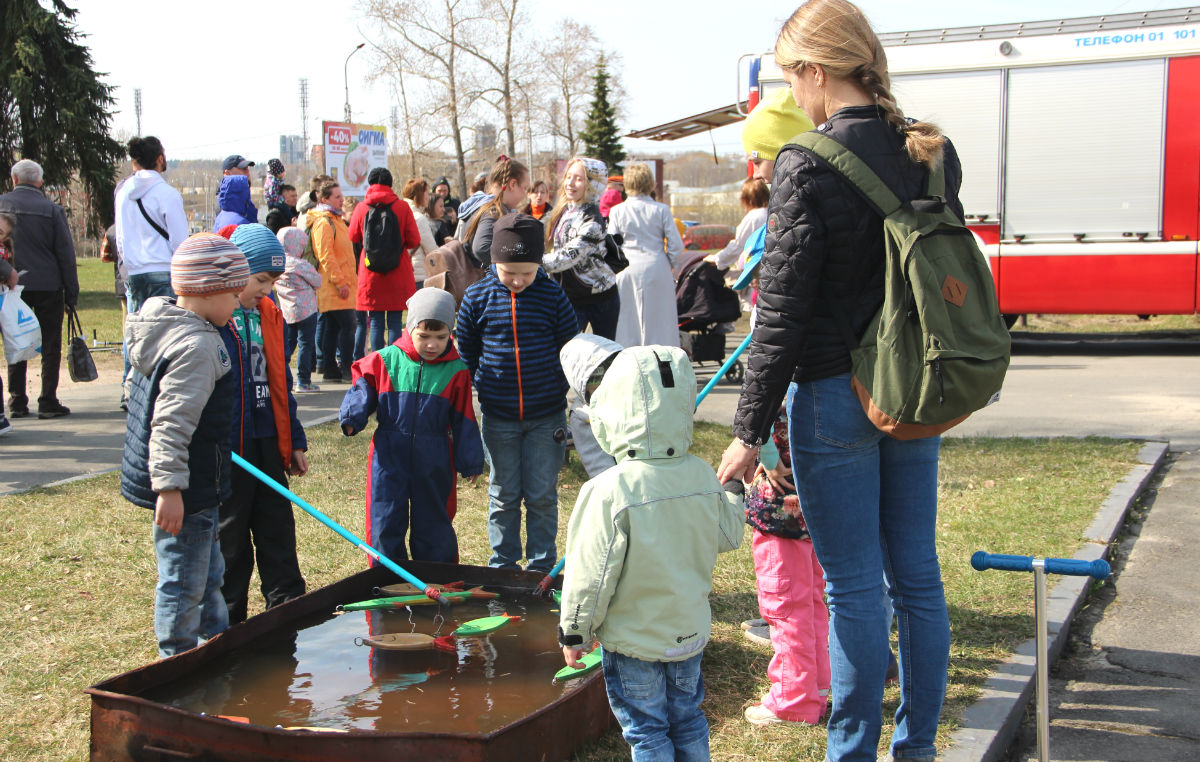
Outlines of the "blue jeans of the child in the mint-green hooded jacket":
M608 706L620 722L634 762L708 761L708 720L700 708L704 700L703 656L642 661L604 652Z

